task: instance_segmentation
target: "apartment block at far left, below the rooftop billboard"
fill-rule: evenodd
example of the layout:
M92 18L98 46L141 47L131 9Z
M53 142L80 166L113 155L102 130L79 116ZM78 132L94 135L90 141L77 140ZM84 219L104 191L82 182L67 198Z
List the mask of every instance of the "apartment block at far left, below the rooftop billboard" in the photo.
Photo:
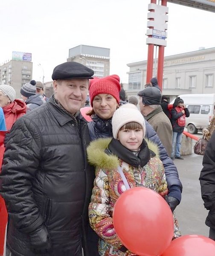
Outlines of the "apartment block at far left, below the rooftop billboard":
M11 60L0 66L0 84L9 84L16 91L16 98L20 98L23 84L32 80L32 62Z

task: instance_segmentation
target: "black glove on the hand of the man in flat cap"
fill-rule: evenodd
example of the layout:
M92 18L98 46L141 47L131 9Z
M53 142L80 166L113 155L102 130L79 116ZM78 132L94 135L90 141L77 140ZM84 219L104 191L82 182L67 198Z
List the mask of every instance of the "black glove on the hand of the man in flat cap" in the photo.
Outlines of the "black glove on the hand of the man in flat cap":
M46 227L38 227L37 230L29 233L29 238L32 251L35 254L43 254L51 251L52 244Z

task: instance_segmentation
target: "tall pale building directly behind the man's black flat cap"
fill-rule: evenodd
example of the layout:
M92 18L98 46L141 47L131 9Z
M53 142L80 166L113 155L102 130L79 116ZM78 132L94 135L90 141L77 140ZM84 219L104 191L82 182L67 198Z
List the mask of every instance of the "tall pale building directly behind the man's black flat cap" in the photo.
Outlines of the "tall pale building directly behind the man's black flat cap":
M69 49L67 61L76 61L94 70L95 77L109 76L110 74L110 49L78 45Z

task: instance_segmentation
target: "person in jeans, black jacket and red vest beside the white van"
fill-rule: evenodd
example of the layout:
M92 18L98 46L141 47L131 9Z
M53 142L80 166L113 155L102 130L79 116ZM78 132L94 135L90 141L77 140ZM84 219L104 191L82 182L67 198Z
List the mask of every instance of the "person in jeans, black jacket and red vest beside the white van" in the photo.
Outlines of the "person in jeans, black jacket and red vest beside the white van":
M189 110L184 105L183 99L177 97L171 110L171 124L172 124L172 152L171 159L183 160L180 156L180 146L182 134L185 127L185 119L189 117Z

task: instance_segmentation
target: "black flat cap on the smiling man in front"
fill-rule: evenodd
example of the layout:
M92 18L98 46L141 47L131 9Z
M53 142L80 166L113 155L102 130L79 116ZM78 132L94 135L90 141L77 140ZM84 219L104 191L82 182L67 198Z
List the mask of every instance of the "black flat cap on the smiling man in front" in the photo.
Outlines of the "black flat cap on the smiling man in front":
M69 79L93 79L94 71L90 68L75 62L68 61L64 62L54 68L52 73L53 80L69 80Z

